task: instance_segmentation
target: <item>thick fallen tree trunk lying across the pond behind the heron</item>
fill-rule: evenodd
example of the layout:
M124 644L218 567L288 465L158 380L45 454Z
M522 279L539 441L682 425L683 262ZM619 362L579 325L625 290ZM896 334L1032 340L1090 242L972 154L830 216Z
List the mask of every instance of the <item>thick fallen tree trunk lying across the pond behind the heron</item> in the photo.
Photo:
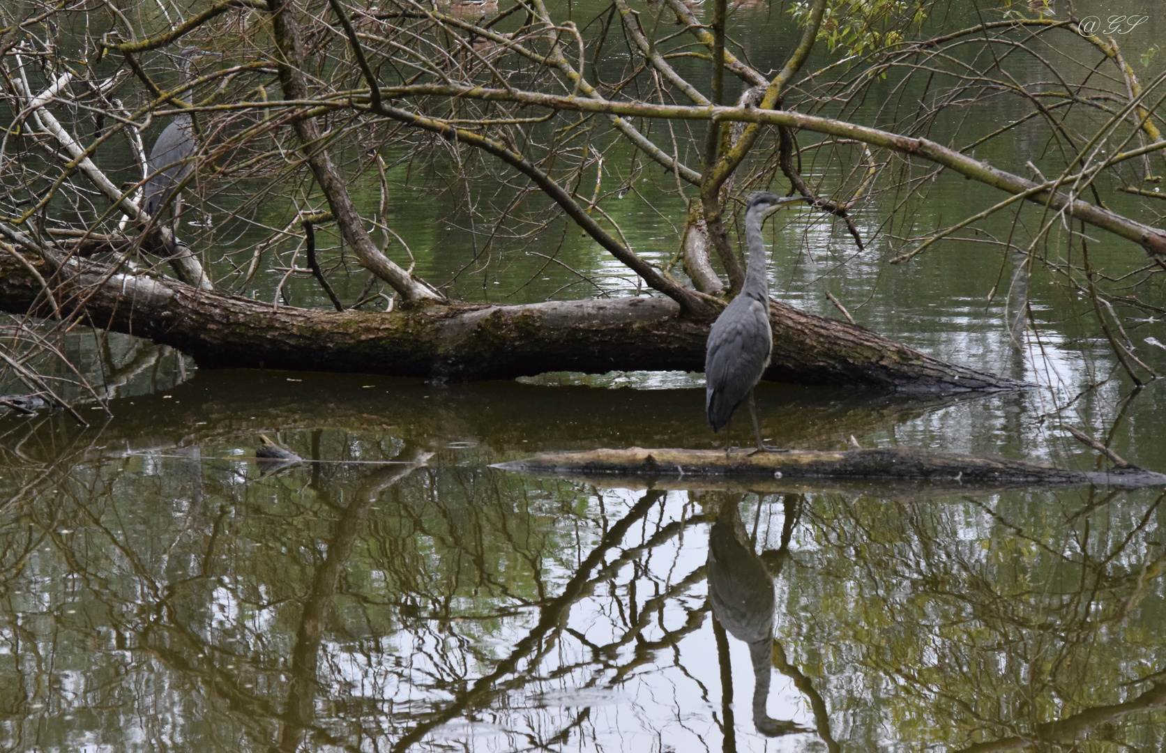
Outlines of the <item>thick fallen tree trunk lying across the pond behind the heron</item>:
M709 322L663 297L527 305L319 311L281 307L166 277L114 274L83 260L54 272L65 315L170 345L201 367L380 373L431 380L507 379L548 371L703 371ZM72 301L72 303L70 303ZM0 256L0 309L49 316L30 269ZM773 359L765 379L956 392L1021 385L930 358L857 325L772 302Z

